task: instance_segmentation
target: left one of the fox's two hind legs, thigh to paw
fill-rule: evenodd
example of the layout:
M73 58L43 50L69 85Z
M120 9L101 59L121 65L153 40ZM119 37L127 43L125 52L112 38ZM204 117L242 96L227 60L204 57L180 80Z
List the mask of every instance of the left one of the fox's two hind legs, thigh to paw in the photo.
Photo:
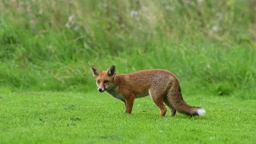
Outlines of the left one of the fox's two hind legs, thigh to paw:
M154 103L159 107L160 114L162 116L165 116L167 110L166 110L166 106L163 104L162 95L158 94L158 92L154 91L154 90L149 90L149 94L150 94L150 97L152 98L152 100L154 101Z

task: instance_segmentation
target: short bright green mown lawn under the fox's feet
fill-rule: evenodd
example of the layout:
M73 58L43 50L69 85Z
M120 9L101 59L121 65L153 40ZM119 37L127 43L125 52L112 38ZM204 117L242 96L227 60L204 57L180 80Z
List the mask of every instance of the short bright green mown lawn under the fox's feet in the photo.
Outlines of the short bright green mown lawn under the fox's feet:
M0 94L0 143L255 143L256 100L184 95L206 115L159 116L150 97L133 114L108 94Z

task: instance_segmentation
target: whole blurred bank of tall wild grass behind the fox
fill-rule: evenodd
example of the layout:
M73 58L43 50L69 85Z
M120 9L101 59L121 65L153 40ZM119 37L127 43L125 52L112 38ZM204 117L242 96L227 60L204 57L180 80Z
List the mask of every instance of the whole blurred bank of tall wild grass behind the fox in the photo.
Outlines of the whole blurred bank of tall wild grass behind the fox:
M0 0L10 90L92 90L90 64L114 63L170 70L185 94L255 98L255 46L254 0Z

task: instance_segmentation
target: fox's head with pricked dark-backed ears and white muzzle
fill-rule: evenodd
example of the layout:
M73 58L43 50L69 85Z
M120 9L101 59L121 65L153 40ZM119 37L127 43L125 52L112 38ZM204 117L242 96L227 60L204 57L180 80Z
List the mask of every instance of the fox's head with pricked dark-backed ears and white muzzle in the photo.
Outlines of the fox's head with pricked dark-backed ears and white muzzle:
M91 71L93 72L99 92L102 93L105 90L109 89L111 86L114 86L114 65L110 66L109 69L106 71L98 70L94 65L91 65Z

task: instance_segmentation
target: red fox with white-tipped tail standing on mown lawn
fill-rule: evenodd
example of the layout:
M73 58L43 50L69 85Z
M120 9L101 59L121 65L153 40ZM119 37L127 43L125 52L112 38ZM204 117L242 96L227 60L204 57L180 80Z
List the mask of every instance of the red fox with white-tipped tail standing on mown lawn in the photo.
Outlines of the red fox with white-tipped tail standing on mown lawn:
M114 65L108 70L98 70L91 65L99 92L112 95L125 103L126 113L131 114L134 98L150 95L159 107L160 114L166 115L166 106L170 108L171 116L176 110L189 116L204 115L206 110L198 106L190 106L182 98L178 78L167 70L150 69L140 70L130 74L116 74Z

